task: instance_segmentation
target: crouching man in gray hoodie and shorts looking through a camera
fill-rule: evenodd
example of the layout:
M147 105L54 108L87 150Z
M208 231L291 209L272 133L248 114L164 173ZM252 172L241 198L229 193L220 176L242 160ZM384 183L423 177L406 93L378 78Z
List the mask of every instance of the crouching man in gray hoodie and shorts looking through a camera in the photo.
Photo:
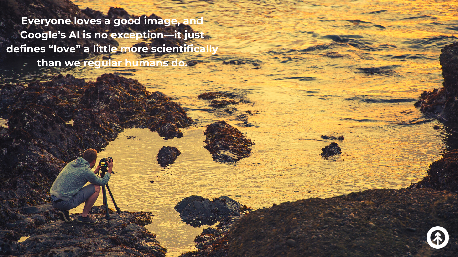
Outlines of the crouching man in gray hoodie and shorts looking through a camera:
M69 162L56 177L49 193L51 193L51 200L55 208L59 209L58 214L61 220L72 221L69 210L84 203L84 209L81 216L78 217L78 222L89 224L97 222L89 215L89 210L98 198L100 186L106 185L110 179L113 161L108 163L108 171L103 178L96 175L100 166L95 171L91 170L96 162L97 151L87 149L82 157ZM87 182L92 184L84 186Z

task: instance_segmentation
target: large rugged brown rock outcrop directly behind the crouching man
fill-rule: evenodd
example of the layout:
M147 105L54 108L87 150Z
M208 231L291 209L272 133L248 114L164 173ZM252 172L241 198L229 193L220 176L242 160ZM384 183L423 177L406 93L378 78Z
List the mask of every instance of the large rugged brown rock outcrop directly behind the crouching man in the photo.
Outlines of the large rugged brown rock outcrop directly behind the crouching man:
M0 112L9 116L8 131L0 137L3 228L22 220L24 209L48 203L65 161L85 149L106 146L124 128L149 128L168 139L181 137L180 129L192 123L163 93L149 93L137 80L113 74L87 83L58 75L28 86L6 84L0 99Z

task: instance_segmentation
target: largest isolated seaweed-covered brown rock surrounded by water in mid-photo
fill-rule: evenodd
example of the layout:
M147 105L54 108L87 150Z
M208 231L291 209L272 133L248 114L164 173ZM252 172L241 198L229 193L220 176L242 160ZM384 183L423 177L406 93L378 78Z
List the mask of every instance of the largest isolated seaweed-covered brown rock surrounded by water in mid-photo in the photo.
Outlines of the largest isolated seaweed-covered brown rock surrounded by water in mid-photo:
M210 151L214 161L239 161L251 154L251 140L225 121L208 124L204 135L205 149Z

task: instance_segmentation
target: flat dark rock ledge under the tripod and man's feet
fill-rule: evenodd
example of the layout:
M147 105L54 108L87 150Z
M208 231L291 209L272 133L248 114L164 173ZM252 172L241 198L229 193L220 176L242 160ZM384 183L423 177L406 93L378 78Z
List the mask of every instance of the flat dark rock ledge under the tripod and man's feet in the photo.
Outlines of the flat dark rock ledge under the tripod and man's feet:
M0 243L3 255L26 256L138 256L164 257L167 250L143 225L151 223L151 213L121 212L111 214L107 223L104 214L93 214L95 225L53 221L30 231L25 241ZM77 218L74 217L74 218ZM140 224L140 225L139 225ZM1 231L0 231L0 235ZM2 236L17 238L14 234ZM5 237L6 236L6 237Z

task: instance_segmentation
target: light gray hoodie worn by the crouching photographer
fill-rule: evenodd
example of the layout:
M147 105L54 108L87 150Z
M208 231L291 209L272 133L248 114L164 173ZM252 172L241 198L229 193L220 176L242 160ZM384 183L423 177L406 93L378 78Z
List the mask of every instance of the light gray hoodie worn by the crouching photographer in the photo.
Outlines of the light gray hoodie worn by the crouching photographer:
M111 174L107 172L104 178L97 177L94 171L90 169L89 162L84 160L83 157L78 157L76 160L65 165L65 168L60 171L49 193L64 201L68 201L87 182L104 186L110 180L110 176Z

